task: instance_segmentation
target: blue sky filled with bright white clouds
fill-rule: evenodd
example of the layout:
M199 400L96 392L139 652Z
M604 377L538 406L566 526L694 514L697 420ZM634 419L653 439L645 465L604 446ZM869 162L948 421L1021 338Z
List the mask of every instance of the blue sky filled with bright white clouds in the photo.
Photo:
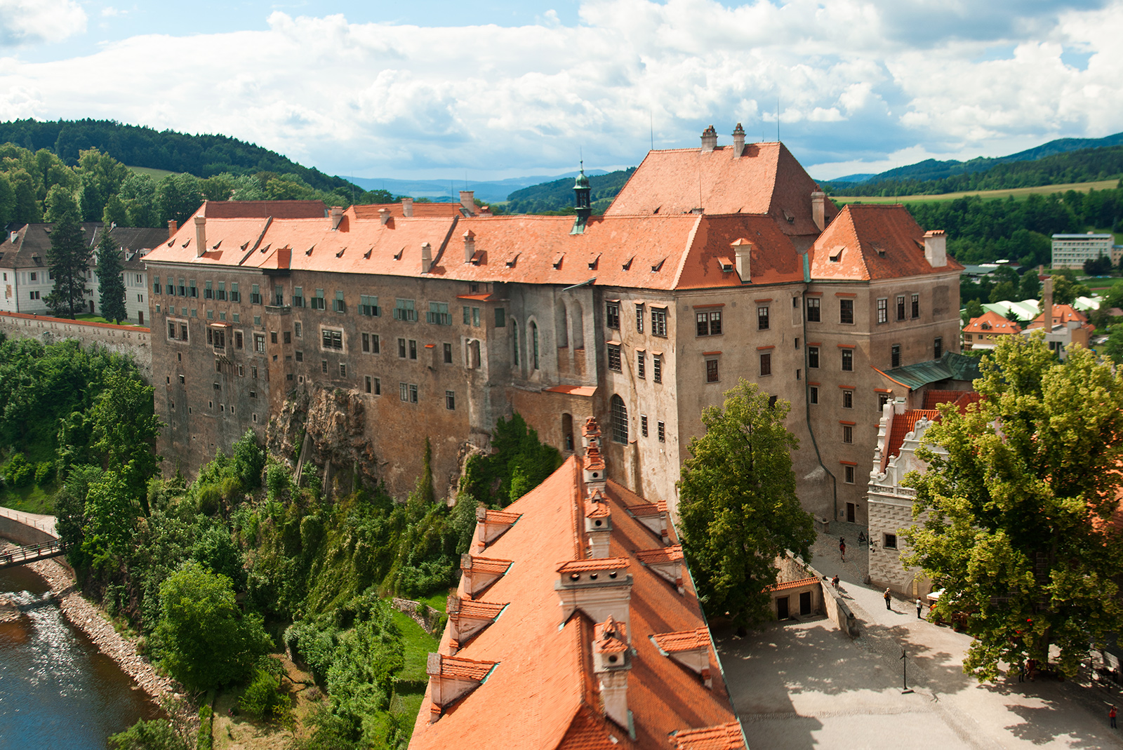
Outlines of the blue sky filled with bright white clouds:
M829 180L1121 131L1121 38L1123 0L0 0L0 120L427 180L620 168L741 122Z

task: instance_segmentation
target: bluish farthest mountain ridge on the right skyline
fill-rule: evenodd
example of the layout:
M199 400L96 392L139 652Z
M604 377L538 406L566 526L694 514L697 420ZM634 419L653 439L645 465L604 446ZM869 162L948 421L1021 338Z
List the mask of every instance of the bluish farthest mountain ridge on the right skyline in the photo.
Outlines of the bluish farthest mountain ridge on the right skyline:
M824 188L829 186L838 194L857 194L850 190L856 185L868 186L891 182L904 182L912 184L917 182L935 182L951 177L960 177L962 175L989 172L1001 164L1010 164L1013 162L1037 162L1060 154L1121 145L1123 145L1123 132L1116 132L1115 135L1106 136L1104 138L1058 138L1057 140L1050 140L1041 146L1017 152L1016 154L1011 154L1008 156L998 156L993 158L980 156L967 162L957 162L955 159L947 162L924 159L923 162L917 162L916 164L896 167L877 174L848 174L834 180L821 180L819 182L820 184L823 184ZM1041 184L1050 183L1046 182ZM1014 188L1023 185L1010 186ZM928 193L929 191L922 190L921 192ZM951 190L941 190L940 192L951 192ZM862 191L860 194L868 195L871 193Z

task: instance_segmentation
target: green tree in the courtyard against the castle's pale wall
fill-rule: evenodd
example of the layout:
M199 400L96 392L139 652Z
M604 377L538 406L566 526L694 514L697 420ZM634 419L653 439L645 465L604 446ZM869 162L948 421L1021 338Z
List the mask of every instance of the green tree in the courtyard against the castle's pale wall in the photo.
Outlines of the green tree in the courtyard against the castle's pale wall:
M691 440L678 482L683 551L705 609L741 625L770 618L768 587L776 558L792 550L810 559L811 514L795 495L784 427L791 409L743 378L723 406L702 412L705 435Z

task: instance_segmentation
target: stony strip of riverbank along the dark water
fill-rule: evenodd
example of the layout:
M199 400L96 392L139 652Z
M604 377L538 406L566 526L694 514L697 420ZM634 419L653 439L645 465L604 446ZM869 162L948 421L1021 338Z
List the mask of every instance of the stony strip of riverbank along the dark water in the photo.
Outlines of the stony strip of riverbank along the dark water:
M15 545L0 540L0 551L8 547ZM157 673L152 662L137 651L137 639L117 632L104 613L82 596L73 571L57 559L38 560L26 567L51 587L63 618L133 678L136 689L144 690L177 724L188 726L193 735L199 728L199 707L183 694L179 683Z

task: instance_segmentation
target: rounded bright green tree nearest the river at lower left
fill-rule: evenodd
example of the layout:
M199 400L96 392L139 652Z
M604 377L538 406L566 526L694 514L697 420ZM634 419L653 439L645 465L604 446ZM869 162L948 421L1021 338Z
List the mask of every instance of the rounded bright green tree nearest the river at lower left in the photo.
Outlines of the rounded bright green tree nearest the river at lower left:
M189 690L246 679L273 647L256 614L243 614L230 579L189 561L159 587L163 665Z

